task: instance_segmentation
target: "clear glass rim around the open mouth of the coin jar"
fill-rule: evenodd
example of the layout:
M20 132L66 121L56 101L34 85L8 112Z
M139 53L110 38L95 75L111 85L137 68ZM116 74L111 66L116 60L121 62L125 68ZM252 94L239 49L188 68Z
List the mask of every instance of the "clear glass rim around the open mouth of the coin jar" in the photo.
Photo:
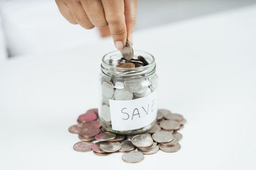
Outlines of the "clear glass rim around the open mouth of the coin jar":
M144 51L141 51L141 50L134 50L134 55L137 55L138 57L138 54L145 54L145 57L148 61L148 65L147 66L142 66L142 67L134 67L134 68L122 68L122 67L115 67L115 66L111 66L108 62L108 60L106 59L106 57L109 57L111 56L111 54L113 55L117 55L117 53L120 53L120 59L122 58L122 54L120 51L116 50L116 51L113 51L113 52L109 52L109 53L106 53L103 57L102 57L102 64L106 64L108 65L109 69L120 69L122 71L140 71L142 68L143 69L147 69L147 68L150 68L150 67L154 67L156 64L155 64L155 57L148 53L148 52L144 52ZM150 59L149 59L150 58Z

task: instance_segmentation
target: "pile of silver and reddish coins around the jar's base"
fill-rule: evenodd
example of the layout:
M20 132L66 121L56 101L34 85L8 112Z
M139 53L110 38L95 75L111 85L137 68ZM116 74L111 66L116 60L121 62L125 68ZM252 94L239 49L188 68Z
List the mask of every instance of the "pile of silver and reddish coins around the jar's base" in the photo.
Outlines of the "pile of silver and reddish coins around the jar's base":
M79 152L93 151L95 155L106 156L122 152L122 160L129 163L141 162L144 155L180 150L179 141L186 119L177 113L160 109L157 111L157 124L142 134L121 135L106 131L99 124L98 110L91 109L77 118L78 124L68 131L78 134L81 139L73 148Z

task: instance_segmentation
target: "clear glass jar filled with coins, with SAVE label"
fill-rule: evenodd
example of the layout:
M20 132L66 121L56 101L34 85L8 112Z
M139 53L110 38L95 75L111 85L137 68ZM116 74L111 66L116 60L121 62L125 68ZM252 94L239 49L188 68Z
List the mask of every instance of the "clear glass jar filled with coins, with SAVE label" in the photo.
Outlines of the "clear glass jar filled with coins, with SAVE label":
M139 134L156 123L156 63L150 53L134 50L134 59L140 55L147 60L147 66L116 67L124 62L119 51L102 57L99 118L107 131Z

